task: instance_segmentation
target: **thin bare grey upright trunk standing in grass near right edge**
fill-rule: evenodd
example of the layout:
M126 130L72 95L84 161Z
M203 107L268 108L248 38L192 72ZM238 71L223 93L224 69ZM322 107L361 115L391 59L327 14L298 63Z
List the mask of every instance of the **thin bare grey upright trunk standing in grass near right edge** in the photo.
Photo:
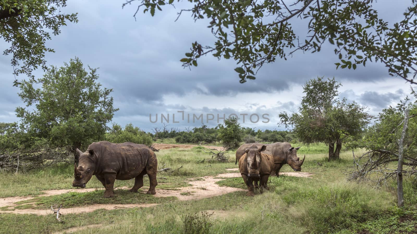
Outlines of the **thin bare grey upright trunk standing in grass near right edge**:
M401 138L399 139L399 150L398 150L398 167L397 167L397 199L398 207L404 206L404 193L402 191L402 164L404 159L404 137L408 128L408 110L404 113L404 126L402 127Z

